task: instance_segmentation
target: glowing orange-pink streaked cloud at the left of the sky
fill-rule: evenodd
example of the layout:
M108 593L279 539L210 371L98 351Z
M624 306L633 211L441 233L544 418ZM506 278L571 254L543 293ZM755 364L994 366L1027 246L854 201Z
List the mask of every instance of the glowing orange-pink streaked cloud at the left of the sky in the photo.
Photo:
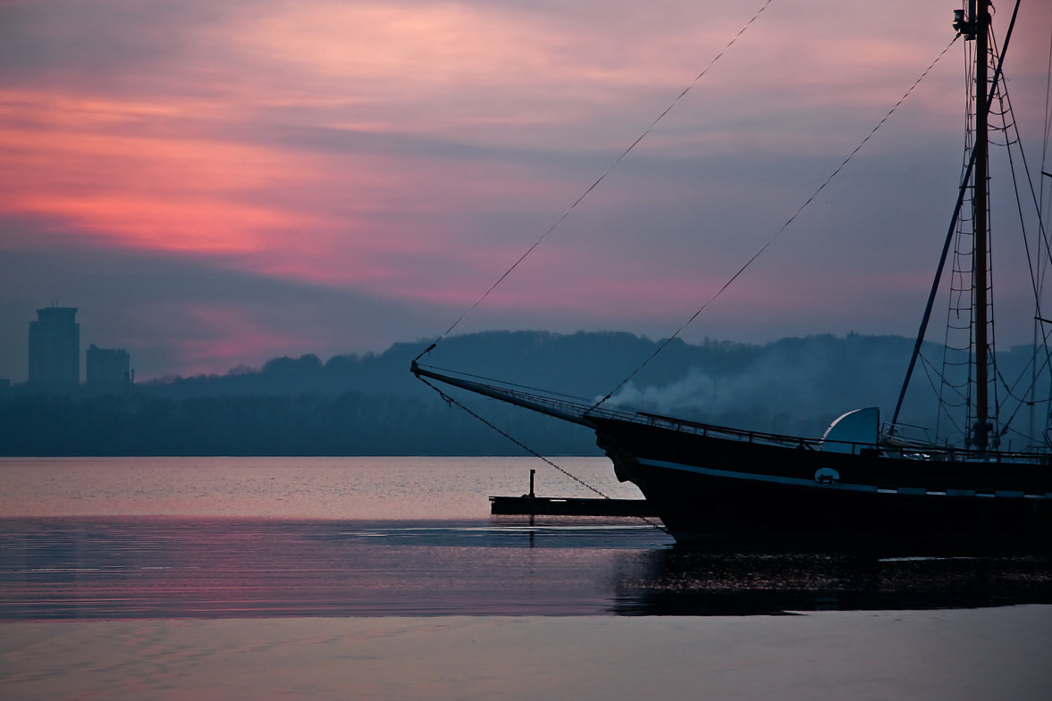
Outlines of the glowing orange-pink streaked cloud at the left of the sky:
M286 249L300 232L353 226L355 206L337 220L297 202L332 170L323 156L201 135L179 121L193 106L54 94L3 94L0 105L4 213L52 218L102 245L199 253ZM340 170L359 210L390 185L367 168Z

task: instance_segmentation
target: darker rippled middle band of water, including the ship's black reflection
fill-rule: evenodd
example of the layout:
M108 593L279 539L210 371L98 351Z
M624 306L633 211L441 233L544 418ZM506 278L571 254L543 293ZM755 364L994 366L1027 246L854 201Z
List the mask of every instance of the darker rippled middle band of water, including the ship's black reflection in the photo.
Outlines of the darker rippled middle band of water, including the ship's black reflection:
M1052 559L712 553L633 519L0 519L0 619L751 615L1052 603Z

